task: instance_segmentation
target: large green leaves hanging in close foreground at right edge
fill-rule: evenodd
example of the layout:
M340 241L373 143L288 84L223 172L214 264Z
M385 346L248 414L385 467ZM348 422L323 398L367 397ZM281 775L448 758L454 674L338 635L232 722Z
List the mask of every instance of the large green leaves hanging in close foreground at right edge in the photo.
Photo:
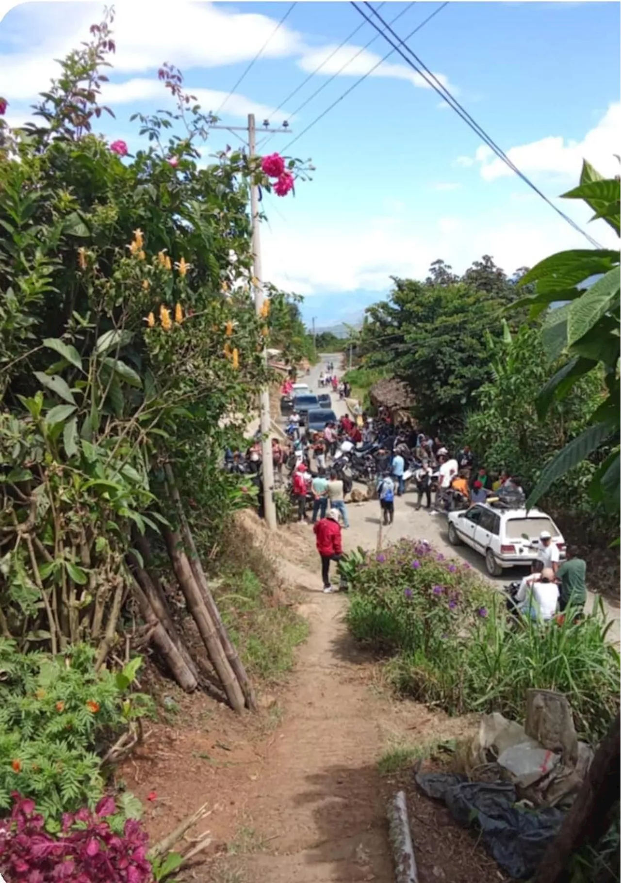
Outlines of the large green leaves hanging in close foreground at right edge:
M584 162L580 184L564 194L584 200L621 235L621 180L605 179ZM562 366L541 389L538 411L545 415L553 402L563 401L579 379L602 371L606 397L590 415L588 426L548 464L529 504L539 500L554 482L590 457L610 448L594 474L591 494L609 509L621 509L621 253L608 249L560 252L542 260L520 284L534 283L534 294L520 306L531 315L545 313L543 341L549 358ZM561 302L563 306L551 308Z

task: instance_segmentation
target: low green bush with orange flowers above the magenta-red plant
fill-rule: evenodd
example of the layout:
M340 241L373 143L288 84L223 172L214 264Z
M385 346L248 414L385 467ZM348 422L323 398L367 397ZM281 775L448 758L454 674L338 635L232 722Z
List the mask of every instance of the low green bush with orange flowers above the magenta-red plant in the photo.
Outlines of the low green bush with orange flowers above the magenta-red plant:
M126 694L140 658L115 675L95 672L94 656L22 654L0 639L0 811L14 791L50 819L102 796L100 755L150 700Z

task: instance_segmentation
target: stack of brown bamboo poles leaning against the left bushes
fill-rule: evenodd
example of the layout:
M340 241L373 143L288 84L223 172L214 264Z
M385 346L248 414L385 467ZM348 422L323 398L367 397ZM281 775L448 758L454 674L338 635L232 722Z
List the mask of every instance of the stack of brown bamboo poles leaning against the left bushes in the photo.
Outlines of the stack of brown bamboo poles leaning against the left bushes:
M231 642L210 590L178 492L177 482L169 464L165 466L165 477L166 489L174 505L178 525L163 527L162 537L179 589L183 593L187 609L193 617L209 663L217 677L221 692L216 688L216 696L225 698L231 708L238 713L244 708L256 711L257 702L253 685L237 649ZM183 690L192 692L202 686L213 692L213 685L204 676L206 673L201 673L199 670L200 660L197 665L184 638L175 626L166 593L150 567L151 554L147 538L136 534L134 544L136 554L130 553L126 557L132 575L133 598L140 615L151 629L151 640L158 654Z

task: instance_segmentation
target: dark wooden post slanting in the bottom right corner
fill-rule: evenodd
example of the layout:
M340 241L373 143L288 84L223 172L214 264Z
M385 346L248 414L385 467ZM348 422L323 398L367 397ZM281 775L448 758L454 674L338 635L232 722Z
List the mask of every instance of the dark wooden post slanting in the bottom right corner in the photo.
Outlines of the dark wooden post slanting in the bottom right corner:
M594 846L610 827L610 810L621 795L621 712L595 752L593 763L557 837L546 850L533 883L562 883L569 858Z

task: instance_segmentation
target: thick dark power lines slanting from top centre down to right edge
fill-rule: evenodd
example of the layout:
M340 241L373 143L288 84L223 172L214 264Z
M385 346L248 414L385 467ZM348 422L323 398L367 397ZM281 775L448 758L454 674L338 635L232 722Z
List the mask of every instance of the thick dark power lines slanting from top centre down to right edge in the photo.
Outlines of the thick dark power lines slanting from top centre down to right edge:
M409 36L406 36L405 39L402 40L401 37L399 37L399 35L396 34L395 31L393 31L390 24L388 24L386 21L384 21L384 19L382 19L382 16L379 14L379 12L376 11L371 4L367 3L367 0L365 0L365 6L367 6L367 8L375 15L375 17L382 22L383 29L380 26L378 26L375 23L375 21L373 21L373 19L371 19L369 16L367 16L367 13L364 10L360 9L358 4L356 4L354 2L354 0L351 0L351 3L352 3L353 8L357 12L359 12L360 15L364 19L367 19L367 22L370 25L375 27L375 30L378 32L378 34L382 34L384 40L386 40L386 42L389 42L390 46L392 46L393 49L397 50L398 54L405 60L405 63L409 64L410 67L413 68L413 70L415 72L417 72L419 74L419 76L422 77L422 79L424 79L428 83L428 85L430 87L432 87L432 89L434 89L435 92L437 94L439 94L441 98L443 98L443 100L445 102L447 102L447 104L451 107L451 109L453 109L455 111L455 113L458 114L458 117L461 117L464 120L466 125L468 125L473 130L473 132L475 132L488 145L488 147L490 147L494 151L496 156L500 160L502 160L511 169L511 171L513 171L519 178L521 178L521 180L524 181L524 183L526 185L528 185L531 188L531 190L533 190L535 193L537 193L537 195L540 196L541 199L544 200L549 205L550 208L554 209L554 211L557 213L557 215L562 217L563 220L566 223L568 223L572 227L573 230L576 230L584 238L586 238L587 241L591 245L594 246L594 248L601 248L602 247L593 237L591 237L587 233L586 230L582 230L582 228L579 226L578 223L573 221L569 215L565 215L564 211L562 211L562 209L558 208L552 202L552 200L549 200L549 198L545 195L545 193L542 192L539 189L539 187L537 187L537 185L535 185L530 180L529 177L526 177L524 172L522 172L518 169L516 164L509 158L509 156L507 156L504 153L504 150L501 147L498 147L496 142L494 140L492 140L492 138L488 135L488 133L485 132L485 130L481 128L481 125L479 125L476 122L476 120L473 119L473 117L471 117L471 115L468 113L468 111L458 102L457 98L455 98L455 96L453 94L451 94L450 90L447 87L443 86L443 84L437 79L437 77L435 77L435 74L433 74L431 71L429 71L427 65L424 64L424 62L421 61L420 57L418 57L416 55L416 53L413 51L413 49L411 49L411 47L405 43L405 41L409 39ZM395 39L398 40L398 42L401 44L401 46L403 46L409 52L409 54L415 59L415 61L420 66L418 66L417 64L414 64L410 58L405 56L404 52L401 49L399 49L398 45L396 45L394 42L392 42L390 40L390 37L386 34L386 31L390 31L390 34L392 34L395 37ZM422 68L422 70L421 70L421 68ZM300 135L301 134L303 134L303 132L300 132ZM298 137L300 137L300 136L298 136Z

